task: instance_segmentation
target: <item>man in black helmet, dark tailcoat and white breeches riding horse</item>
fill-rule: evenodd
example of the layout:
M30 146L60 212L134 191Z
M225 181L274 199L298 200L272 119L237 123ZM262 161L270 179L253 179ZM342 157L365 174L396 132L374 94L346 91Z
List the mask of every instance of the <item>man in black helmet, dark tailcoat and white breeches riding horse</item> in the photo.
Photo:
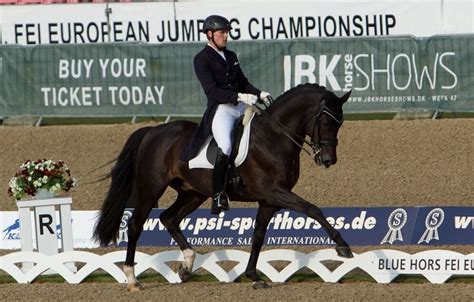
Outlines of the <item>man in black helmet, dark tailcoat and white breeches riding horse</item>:
M234 122L243 115L246 104L254 105L259 97L265 102L271 100L268 92L249 83L237 55L226 48L231 29L230 22L222 16L211 15L204 20L208 43L194 57L194 71L207 96L207 109L181 156L186 161L195 157L206 138L214 136L219 148L212 177L212 214L229 209L225 188Z

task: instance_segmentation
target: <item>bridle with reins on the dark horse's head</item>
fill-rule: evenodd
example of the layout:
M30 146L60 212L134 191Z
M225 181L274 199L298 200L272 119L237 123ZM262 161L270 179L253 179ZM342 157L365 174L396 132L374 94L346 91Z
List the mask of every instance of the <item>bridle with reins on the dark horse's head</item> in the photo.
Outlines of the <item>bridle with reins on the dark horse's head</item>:
M260 104L265 106L265 109L268 108L266 104L264 104L260 99L258 100L261 102ZM322 147L323 146L337 146L338 140L337 138L335 139L325 139L321 140L320 137L320 121L321 121L321 116L323 114L328 115L330 118L332 118L336 123L339 125L342 125L344 122L344 117L341 114L338 114L334 111L332 111L329 107L326 106L326 99L323 99L319 105L318 111L314 114L313 118L314 123L313 123L313 135L311 136L311 141L308 141L305 137L301 137L300 135L296 134L295 131L282 123L280 123L278 120L276 120L270 113L268 113L265 109L259 108L261 112L263 112L268 118L270 118L271 121L275 122L281 129L283 134L288 137L295 145L301 148L306 154L309 156L315 158L321 153ZM317 129L316 129L317 128ZM314 140L314 133L318 134L317 140ZM299 141L303 141L303 143L299 143ZM305 144L311 147L311 151L308 151L305 148Z

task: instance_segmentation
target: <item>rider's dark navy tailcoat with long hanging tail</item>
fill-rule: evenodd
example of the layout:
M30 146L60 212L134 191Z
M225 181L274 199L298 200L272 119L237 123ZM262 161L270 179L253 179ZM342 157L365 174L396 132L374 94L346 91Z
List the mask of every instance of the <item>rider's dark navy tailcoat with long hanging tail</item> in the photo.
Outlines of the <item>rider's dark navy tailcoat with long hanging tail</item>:
M211 134L212 120L219 104L237 104L238 93L260 95L245 77L237 55L224 49L225 60L211 46L206 45L194 57L194 72L207 96L207 109L195 129L191 140L185 146L180 159L189 161L195 157L207 137Z

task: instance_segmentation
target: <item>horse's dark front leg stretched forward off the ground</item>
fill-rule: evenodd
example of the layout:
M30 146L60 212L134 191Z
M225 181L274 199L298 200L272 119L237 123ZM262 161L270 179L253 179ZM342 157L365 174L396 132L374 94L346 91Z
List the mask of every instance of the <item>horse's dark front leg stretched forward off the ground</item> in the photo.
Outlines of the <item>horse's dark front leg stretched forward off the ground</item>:
M329 238L336 242L336 252L339 256L345 258L354 257L349 245L342 239L341 234L326 220L320 208L283 187L276 188L272 195L274 198L267 201L270 205L304 213L315 219L329 235Z

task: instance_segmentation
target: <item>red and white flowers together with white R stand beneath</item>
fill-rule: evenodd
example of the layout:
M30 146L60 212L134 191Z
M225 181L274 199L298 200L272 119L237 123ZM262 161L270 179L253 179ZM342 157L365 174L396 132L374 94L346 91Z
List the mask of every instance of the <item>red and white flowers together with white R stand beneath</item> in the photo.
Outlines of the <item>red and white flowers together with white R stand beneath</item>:
M33 251L36 245L39 253L57 254L60 250L58 240L62 251L73 250L72 198L58 195L75 186L77 180L71 177L71 171L61 160L27 160L20 165L20 171L10 179L8 195L17 200L22 251ZM71 271L76 271L74 263L66 264ZM33 263L22 264L24 271L31 268ZM45 273L53 272L48 270Z

